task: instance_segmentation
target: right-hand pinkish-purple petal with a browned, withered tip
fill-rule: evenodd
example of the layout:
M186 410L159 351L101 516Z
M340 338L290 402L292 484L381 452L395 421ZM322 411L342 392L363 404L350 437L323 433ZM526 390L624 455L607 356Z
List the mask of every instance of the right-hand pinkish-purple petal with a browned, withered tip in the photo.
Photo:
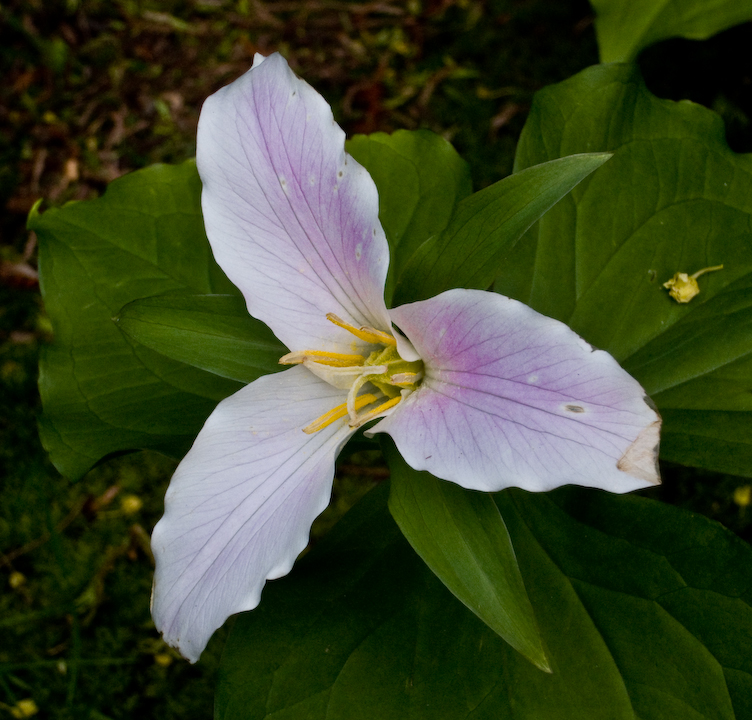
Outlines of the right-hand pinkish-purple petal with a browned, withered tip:
M479 290L391 311L422 385L372 428L416 470L475 490L660 482L660 418L639 383L566 325Z

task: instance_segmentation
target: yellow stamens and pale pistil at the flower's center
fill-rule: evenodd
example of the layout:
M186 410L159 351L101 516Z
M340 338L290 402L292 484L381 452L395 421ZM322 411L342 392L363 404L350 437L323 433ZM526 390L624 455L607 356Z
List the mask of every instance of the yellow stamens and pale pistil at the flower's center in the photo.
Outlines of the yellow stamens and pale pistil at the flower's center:
M423 362L403 360L391 334L370 327L357 328L332 313L326 318L377 347L367 357L326 350L297 350L279 359L282 365L305 365L330 385L347 390L347 401L304 427L305 433L323 430L346 415L350 417L352 428L388 415L423 379Z

